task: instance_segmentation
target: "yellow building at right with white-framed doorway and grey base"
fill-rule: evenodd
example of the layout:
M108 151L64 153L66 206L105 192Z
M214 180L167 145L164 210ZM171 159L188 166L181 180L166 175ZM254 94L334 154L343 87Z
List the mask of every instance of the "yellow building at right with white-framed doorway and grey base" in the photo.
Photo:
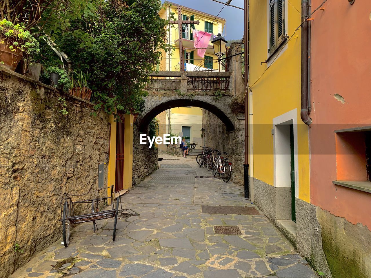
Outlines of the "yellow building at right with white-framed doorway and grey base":
M301 1L251 0L250 177L256 204L295 244L309 205L308 126L301 111ZM253 150L253 151L252 151Z

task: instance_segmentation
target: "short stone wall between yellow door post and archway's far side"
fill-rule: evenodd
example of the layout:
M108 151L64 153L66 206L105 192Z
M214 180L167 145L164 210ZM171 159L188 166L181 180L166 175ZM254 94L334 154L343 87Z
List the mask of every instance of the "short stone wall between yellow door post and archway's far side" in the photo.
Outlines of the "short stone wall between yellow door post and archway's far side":
M139 144L139 134L142 132L136 124L133 133L133 186L135 186L158 169L158 149L149 148L148 141L147 145Z

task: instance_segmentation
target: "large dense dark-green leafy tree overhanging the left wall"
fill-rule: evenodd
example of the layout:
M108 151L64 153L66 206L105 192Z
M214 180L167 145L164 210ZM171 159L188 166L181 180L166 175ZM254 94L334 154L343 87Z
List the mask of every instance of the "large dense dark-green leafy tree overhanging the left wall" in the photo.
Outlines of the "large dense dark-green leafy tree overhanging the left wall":
M74 62L74 69L90 73L96 109L114 115L116 110L143 111L148 75L168 46L168 20L159 16L161 6L160 0L91 0L88 11L80 10L76 18L62 12L62 18L70 18L68 27L48 27L47 35ZM45 42L40 47L37 62L58 63Z

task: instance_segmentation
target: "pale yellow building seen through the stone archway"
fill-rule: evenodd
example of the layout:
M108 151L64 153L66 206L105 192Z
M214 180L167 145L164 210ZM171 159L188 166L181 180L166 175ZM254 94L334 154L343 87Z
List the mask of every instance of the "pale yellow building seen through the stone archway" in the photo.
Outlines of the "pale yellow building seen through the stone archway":
M202 108L200 107L175 107L161 112L156 117L159 123L159 136L169 134L170 132L178 135L183 132L187 142L196 143L196 148L200 148L201 141L201 128L202 128ZM170 119L170 126L169 126ZM160 144L158 149L166 152L167 145Z

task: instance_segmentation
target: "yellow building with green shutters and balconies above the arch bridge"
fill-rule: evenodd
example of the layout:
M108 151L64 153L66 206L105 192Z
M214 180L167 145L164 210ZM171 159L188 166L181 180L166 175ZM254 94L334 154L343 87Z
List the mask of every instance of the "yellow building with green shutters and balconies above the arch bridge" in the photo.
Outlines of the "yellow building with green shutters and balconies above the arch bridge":
M165 9L161 9L160 16L164 19L170 18L171 13L174 13L175 20L177 20L179 8L181 9L182 20L200 21L200 24L198 25L183 24L182 27L184 63L186 63L185 70L193 71L195 68L196 70L203 68L219 70L217 57L214 55L213 46L211 44L213 37L211 37L205 57L200 57L197 55L196 49L191 49L194 47L194 38L191 29L194 28L196 30L206 31L214 35L217 35L218 33L223 34L226 20L202 11L180 6L169 1L165 1L163 7L165 7ZM178 24L170 24L169 29L170 31L167 31L167 41L172 47L172 53L165 51L162 52L162 61L158 66L158 70L179 71L180 60Z

